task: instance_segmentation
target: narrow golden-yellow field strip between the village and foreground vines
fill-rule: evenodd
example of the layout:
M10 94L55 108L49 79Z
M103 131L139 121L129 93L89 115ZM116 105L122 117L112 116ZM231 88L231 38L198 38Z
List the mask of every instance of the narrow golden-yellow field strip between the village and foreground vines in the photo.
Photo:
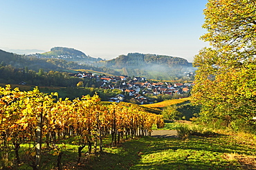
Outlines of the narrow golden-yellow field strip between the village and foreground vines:
M190 100L191 100L190 97L185 97L185 98L181 98L179 100L165 100L163 102L158 102L158 103L154 103L154 104L143 104L143 106L147 107L147 108L163 108L166 106L171 106L173 104L180 104L180 103L187 102Z

